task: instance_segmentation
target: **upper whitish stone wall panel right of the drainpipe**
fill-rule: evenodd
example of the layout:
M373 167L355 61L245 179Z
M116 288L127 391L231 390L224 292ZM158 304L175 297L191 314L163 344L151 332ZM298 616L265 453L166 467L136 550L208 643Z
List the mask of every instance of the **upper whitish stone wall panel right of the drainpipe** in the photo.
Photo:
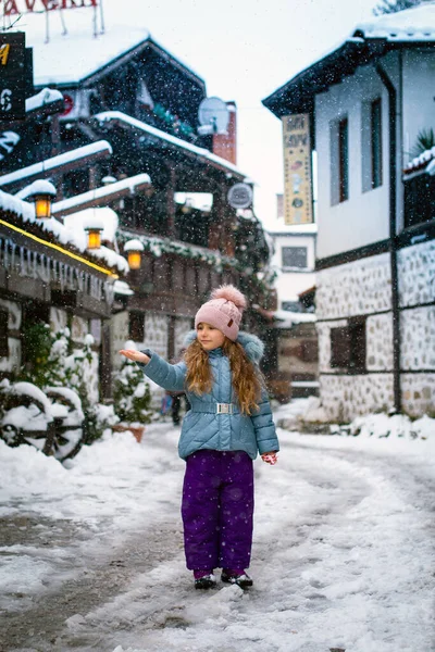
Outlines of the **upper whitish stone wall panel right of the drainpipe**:
M400 306L435 301L435 240L397 254Z

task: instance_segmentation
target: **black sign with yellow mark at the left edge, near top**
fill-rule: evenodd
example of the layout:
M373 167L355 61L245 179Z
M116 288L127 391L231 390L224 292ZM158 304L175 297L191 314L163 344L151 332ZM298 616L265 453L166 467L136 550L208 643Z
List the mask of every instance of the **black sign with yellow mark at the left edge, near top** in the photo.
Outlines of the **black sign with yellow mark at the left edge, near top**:
M26 60L23 32L0 33L0 122L26 116Z

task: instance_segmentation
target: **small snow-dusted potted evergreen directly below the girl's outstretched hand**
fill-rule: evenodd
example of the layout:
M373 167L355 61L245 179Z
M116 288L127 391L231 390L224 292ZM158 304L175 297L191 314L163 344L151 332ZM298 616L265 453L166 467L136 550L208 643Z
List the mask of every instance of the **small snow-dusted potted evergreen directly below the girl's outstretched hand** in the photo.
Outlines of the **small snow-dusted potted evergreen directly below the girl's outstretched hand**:
M135 349L127 341L125 349ZM116 415L128 424L148 424L151 421L151 392L144 374L135 362L125 358L113 383L113 400Z

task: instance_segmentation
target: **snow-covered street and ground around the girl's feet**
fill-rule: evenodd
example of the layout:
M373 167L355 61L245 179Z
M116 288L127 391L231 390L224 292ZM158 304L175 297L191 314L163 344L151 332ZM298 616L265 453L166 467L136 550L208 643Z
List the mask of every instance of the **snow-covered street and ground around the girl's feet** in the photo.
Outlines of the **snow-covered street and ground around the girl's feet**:
M184 564L177 437L115 434L69 468L0 442L0 650L435 650L435 432L279 429L278 464L256 462L254 587L206 593Z

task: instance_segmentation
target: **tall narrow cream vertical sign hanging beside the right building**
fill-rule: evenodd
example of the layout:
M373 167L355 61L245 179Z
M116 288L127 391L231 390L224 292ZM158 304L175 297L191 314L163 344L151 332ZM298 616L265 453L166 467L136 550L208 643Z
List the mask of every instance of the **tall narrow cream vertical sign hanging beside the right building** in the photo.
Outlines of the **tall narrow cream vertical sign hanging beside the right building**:
M310 116L286 115L283 121L284 148L284 222L311 224L312 175Z

